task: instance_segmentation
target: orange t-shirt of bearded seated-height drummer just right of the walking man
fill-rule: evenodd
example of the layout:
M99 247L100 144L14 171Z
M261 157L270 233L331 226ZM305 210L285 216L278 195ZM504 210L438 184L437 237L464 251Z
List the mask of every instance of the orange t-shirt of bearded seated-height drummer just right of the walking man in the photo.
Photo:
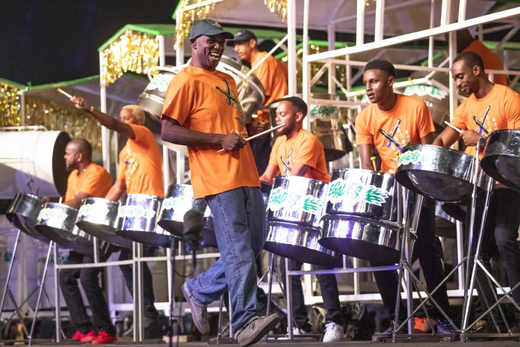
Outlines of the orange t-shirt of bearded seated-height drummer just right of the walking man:
M330 182L323 145L312 133L301 129L290 139L287 139L286 135L276 138L271 149L269 164L278 166L282 176L290 176L291 172L282 162L282 158L291 168L294 164L310 166L304 177Z

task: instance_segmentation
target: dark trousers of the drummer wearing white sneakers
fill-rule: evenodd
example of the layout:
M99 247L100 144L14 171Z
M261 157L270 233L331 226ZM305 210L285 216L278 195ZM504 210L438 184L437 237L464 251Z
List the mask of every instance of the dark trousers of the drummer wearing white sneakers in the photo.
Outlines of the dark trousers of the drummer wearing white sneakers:
M291 271L298 271L302 269L302 263L295 260L290 261ZM328 267L313 265L314 270L326 270ZM285 258L280 257L280 270L282 278L285 280ZM293 316L298 328L304 331L310 331L311 325L307 316L307 308L305 307L305 300L303 297L302 276L290 276L292 286L292 303ZM321 288L321 297L323 298L323 305L327 310L325 319L327 322L334 322L343 325L341 319L340 293L337 290L337 281L334 274L320 274L316 275L318 283Z

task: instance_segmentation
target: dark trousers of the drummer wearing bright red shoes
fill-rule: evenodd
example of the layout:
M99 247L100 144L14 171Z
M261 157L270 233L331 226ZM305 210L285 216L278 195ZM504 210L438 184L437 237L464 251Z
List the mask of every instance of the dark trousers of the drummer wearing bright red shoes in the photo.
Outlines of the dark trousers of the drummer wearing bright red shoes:
M94 259L74 251L70 251L67 264L93 263ZM106 331L115 335L115 328L110 319L107 301L99 287L98 275L102 267L85 267L76 269L62 269L60 271L60 287L63 298L67 303L72 322L82 333L90 330ZM94 325L88 318L83 299L81 298L80 288L77 286L77 279L80 279L81 286L92 310Z

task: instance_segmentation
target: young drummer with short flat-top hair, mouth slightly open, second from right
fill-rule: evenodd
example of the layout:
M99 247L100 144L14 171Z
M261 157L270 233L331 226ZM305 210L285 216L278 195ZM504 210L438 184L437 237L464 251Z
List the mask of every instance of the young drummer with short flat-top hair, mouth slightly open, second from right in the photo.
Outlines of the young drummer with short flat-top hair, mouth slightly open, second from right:
M435 127L432 116L423 100L394 93L396 71L387 60L371 60L365 66L363 84L371 105L363 109L356 118L356 144L359 148L361 169L375 170L372 162L372 146L381 158L381 172L395 174L398 153L406 145L431 144ZM441 262L443 253L439 239L435 236L435 204L424 199L417 231L417 242L413 259L419 258L426 279L428 291L433 291L444 278ZM413 261L412 261L413 262ZM374 266L383 265L372 263ZM389 311L392 324L387 330L372 336L372 341L391 338L394 327L406 318L406 309L400 303L399 317L394 317L397 299L397 272L375 271L383 304ZM441 309L451 315L446 284L433 295ZM451 324L440 314L432 312L436 318L438 333L455 333ZM397 319L397 322L395 320Z

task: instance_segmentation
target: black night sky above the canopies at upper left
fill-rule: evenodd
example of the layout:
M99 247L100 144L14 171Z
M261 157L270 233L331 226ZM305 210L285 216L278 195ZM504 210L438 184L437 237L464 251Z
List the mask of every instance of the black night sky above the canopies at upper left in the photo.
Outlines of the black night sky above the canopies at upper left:
M177 0L4 0L0 79L40 85L99 74L99 46L125 24L173 24L176 6Z

